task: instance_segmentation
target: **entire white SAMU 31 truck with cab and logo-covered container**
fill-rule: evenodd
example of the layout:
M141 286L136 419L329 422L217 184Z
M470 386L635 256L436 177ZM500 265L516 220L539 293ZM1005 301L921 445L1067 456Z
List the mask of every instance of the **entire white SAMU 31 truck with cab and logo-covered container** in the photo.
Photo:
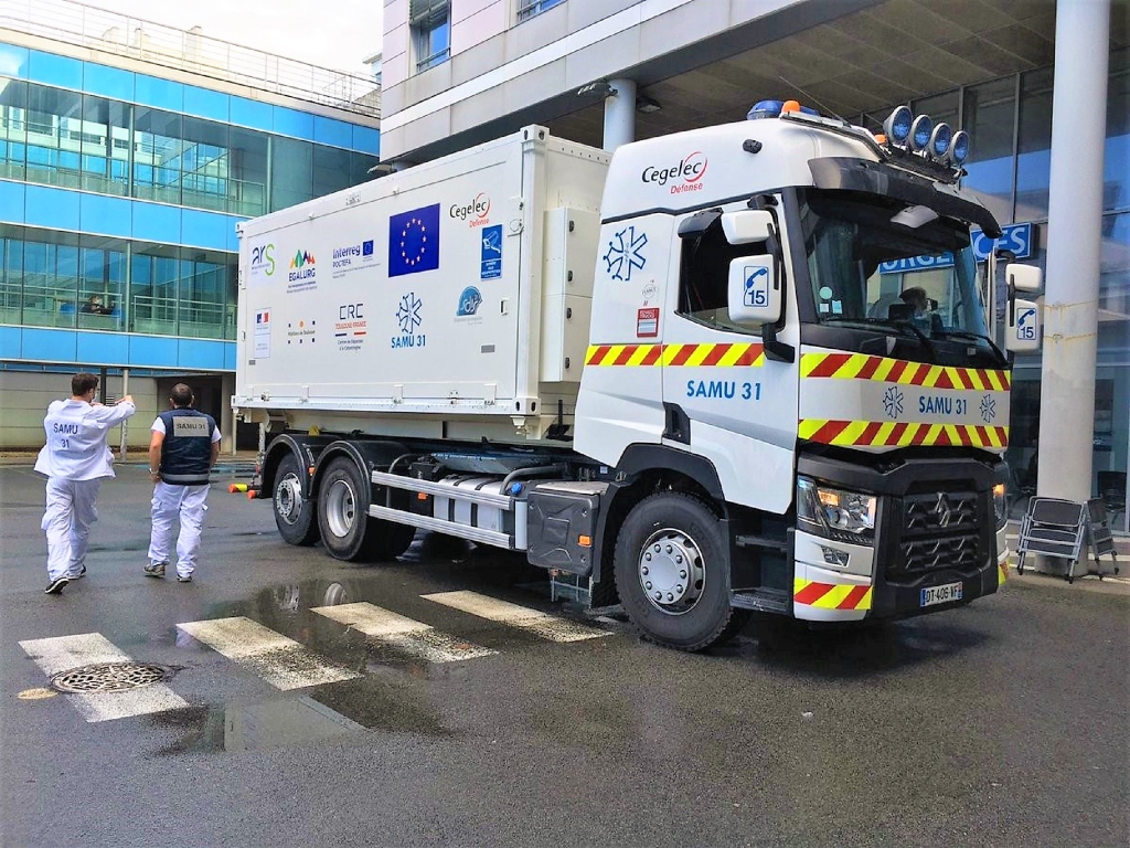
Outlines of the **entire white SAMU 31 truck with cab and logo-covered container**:
M885 130L527 127L243 224L233 406L282 538L524 552L685 650L994 592L1010 357L970 244L1000 230L964 132ZM1040 271L1006 277L1033 349Z

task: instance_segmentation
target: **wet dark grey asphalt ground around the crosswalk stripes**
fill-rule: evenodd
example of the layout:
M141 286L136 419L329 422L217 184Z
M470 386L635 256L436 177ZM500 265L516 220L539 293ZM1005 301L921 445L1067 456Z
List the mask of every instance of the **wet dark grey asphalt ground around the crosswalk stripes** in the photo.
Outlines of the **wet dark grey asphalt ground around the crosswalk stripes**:
M1025 574L970 606L705 655L572 616L516 557L417 538L373 566L209 499L197 579L142 577L150 486L99 496L88 576L43 595L43 479L0 468L2 846L1122 846L1130 587ZM226 475L226 476L225 476ZM1124 574L1123 574L1124 576ZM607 635L553 642L470 590ZM426 663L312 612L368 603L495 651ZM281 691L177 624L242 616L353 673ZM185 707L87 721L20 647L97 633ZM90 695L97 699L97 695Z

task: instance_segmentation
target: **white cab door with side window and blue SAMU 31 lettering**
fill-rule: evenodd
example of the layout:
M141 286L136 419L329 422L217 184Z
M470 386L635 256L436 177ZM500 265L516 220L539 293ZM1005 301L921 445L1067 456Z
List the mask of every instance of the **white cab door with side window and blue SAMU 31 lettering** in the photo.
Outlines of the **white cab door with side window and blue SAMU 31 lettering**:
M799 356L767 355L760 327L732 321L728 297L731 262L768 248L731 244L716 209L686 216L678 233L663 332L663 443L709 459L728 501L784 512L793 497ZM796 298L782 276L777 340L797 351Z

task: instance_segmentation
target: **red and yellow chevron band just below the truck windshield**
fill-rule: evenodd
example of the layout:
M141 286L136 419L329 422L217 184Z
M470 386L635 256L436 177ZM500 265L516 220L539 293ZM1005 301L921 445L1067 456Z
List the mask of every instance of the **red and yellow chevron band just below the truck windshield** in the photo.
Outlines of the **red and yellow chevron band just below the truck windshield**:
M806 353L800 357L800 375L979 391L1007 391L1011 384L1008 371L928 365L885 356L845 353Z

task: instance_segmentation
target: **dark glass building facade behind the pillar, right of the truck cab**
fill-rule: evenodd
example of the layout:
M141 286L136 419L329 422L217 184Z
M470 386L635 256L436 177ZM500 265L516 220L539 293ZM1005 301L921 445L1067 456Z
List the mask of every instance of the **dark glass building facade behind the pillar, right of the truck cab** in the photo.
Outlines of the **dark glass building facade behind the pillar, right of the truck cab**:
M1053 68L1038 68L912 102L915 113L967 130L973 139L963 184L976 191L1002 224L1031 224L1031 253L1022 261L1046 270L1051 182ZM897 105L897 104L894 104ZM887 112L858 116L879 130ZM1130 449L1130 50L1110 54L1103 222L1095 372L1093 491L1099 475L1124 475ZM1009 461L1017 482L1040 433L1041 358L1020 356L1012 384ZM1124 481L1124 477L1121 478ZM1124 483L1123 483L1124 488ZM1127 529L1127 514L1116 516Z

